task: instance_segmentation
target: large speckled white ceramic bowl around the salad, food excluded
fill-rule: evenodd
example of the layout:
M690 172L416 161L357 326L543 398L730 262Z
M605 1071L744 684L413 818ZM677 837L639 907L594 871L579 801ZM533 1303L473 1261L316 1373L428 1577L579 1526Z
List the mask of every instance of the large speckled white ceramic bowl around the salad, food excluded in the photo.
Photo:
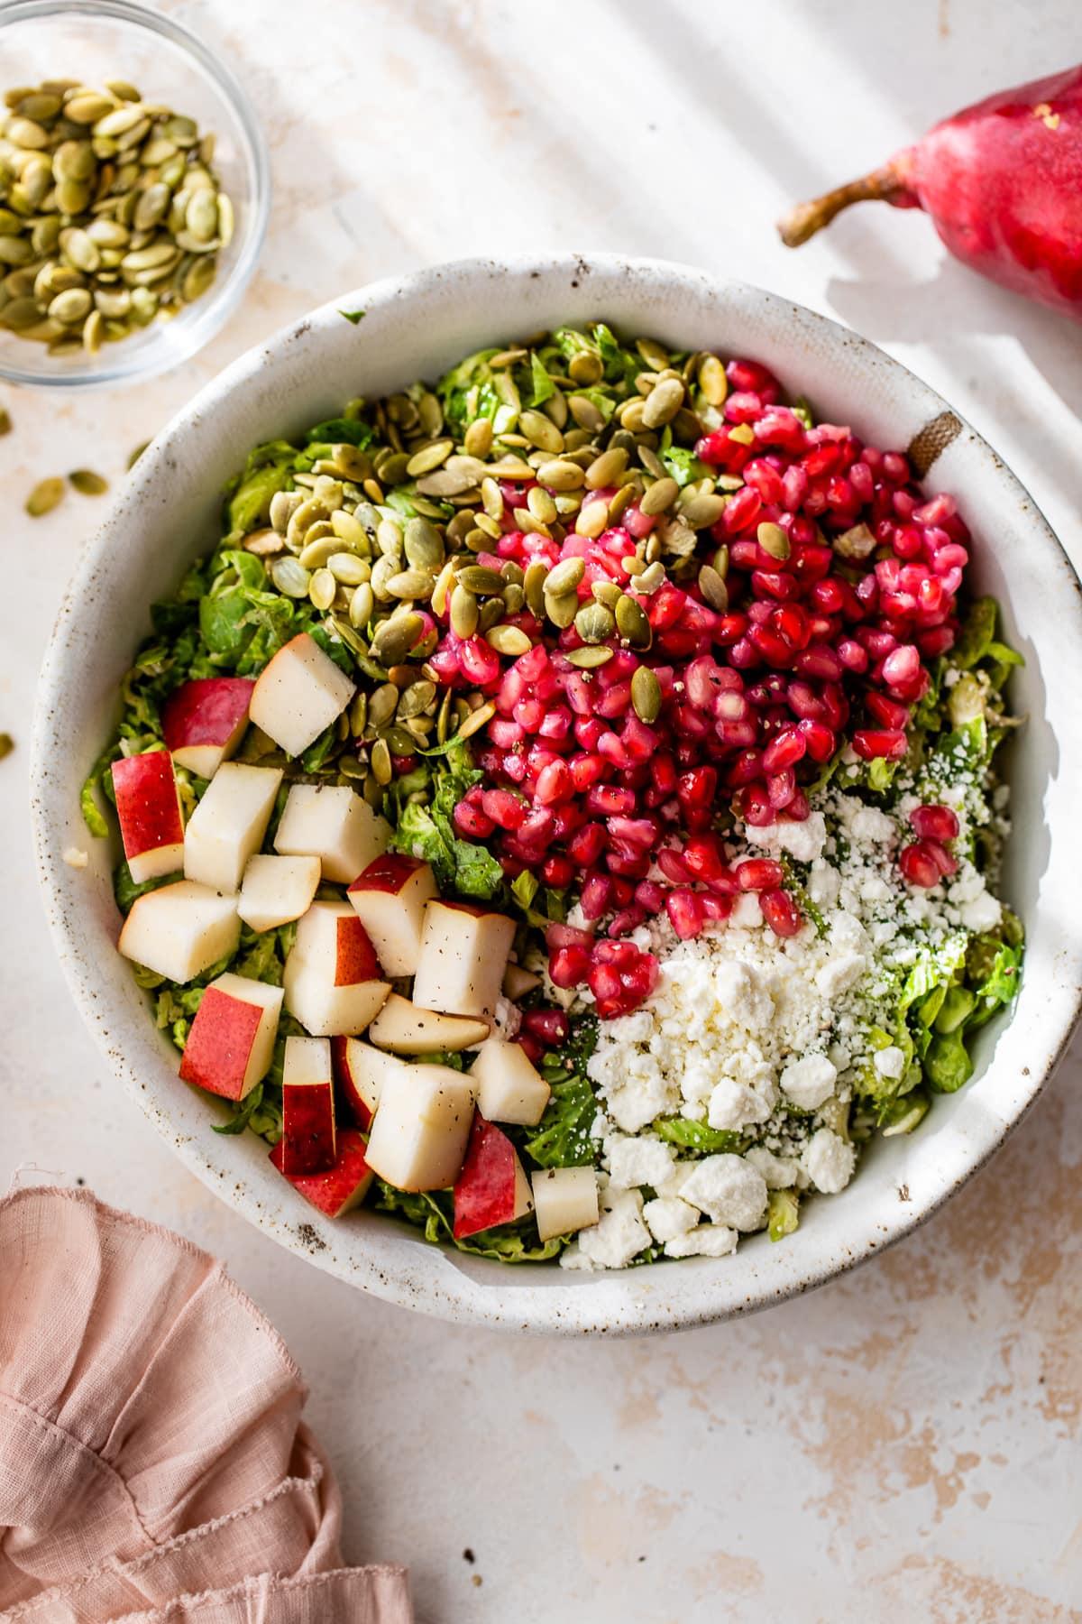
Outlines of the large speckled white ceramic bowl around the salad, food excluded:
M350 326L341 309L367 315ZM114 952L115 851L88 838L78 807L148 604L214 541L222 486L251 445L331 416L352 395L435 378L485 343L590 317L758 357L822 417L852 421L884 447L934 424L925 448L949 443L925 484L954 492L973 528L975 581L996 593L1027 659L1014 702L1028 718L1009 757L1015 831L1004 877L1027 927L1025 978L1011 1017L980 1034L973 1080L936 1099L913 1137L874 1145L845 1194L808 1202L790 1241L758 1236L735 1257L615 1275L467 1259L368 1212L323 1221L274 1173L261 1140L213 1134L213 1108L177 1080L177 1056ZM266 1234L342 1280L448 1319L568 1333L696 1325L777 1302L899 1239L996 1150L1048 1080L1079 1009L1080 697L1079 583L1059 544L994 451L873 344L772 294L655 260L472 260L360 289L277 333L143 455L83 554L45 658L32 765L37 862L71 991L117 1078L193 1173ZM65 864L71 844L89 848L89 867Z

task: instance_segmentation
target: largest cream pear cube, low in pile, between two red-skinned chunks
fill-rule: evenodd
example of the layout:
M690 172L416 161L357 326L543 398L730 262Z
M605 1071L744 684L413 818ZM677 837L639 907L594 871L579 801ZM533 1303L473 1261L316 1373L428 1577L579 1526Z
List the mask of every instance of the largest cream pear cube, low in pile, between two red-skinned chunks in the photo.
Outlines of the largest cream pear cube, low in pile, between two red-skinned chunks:
M459 1176L474 1088L449 1065L388 1072L368 1138L368 1166L396 1190L446 1190Z

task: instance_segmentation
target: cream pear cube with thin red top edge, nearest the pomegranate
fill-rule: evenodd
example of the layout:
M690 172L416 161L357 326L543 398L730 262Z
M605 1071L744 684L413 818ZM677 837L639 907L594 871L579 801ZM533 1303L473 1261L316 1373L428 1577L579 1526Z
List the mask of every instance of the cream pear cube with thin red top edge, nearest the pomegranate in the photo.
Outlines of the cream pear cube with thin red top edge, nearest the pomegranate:
M414 1004L446 1015L496 1013L514 919L472 903L425 908Z

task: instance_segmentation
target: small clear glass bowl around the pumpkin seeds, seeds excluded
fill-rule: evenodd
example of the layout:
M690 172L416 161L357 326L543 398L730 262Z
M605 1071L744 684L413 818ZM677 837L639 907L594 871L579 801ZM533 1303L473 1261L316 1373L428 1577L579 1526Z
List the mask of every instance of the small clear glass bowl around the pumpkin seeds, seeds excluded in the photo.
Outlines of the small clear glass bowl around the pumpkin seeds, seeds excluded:
M133 383L175 367L237 309L255 271L271 211L271 169L251 102L214 54L172 18L133 0L8 0L0 5L0 96L15 84L78 78L128 80L216 136L214 169L234 205L232 242L213 286L175 317L151 322L101 351L50 356L45 344L0 328L0 377L10 383L86 388Z

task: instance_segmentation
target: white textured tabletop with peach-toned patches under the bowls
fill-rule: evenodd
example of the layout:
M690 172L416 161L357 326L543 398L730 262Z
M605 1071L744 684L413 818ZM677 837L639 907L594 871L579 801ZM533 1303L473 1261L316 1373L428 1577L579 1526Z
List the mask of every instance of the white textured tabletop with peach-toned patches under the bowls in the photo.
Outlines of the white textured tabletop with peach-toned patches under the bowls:
M1082 559L1082 330L967 276L913 214L868 208L800 255L771 231L788 197L871 166L959 101L1063 67L1074 6L767 0L753 29L701 0L308 0L305 37L284 0L263 0L258 28L240 28L250 6L174 10L264 109L271 239L240 318L183 372L78 404L5 393L0 547L23 590L0 599L0 728L18 742L91 516L71 495L31 523L29 486L68 466L118 476L271 326L456 253L665 253L847 320L999 447ZM83 1177L229 1260L311 1380L349 1556L409 1561L423 1624L1079 1616L1077 1047L990 1169L816 1296L650 1343L436 1325L260 1237L117 1095L45 939L24 770L24 750L0 765L0 1179L26 1163Z

